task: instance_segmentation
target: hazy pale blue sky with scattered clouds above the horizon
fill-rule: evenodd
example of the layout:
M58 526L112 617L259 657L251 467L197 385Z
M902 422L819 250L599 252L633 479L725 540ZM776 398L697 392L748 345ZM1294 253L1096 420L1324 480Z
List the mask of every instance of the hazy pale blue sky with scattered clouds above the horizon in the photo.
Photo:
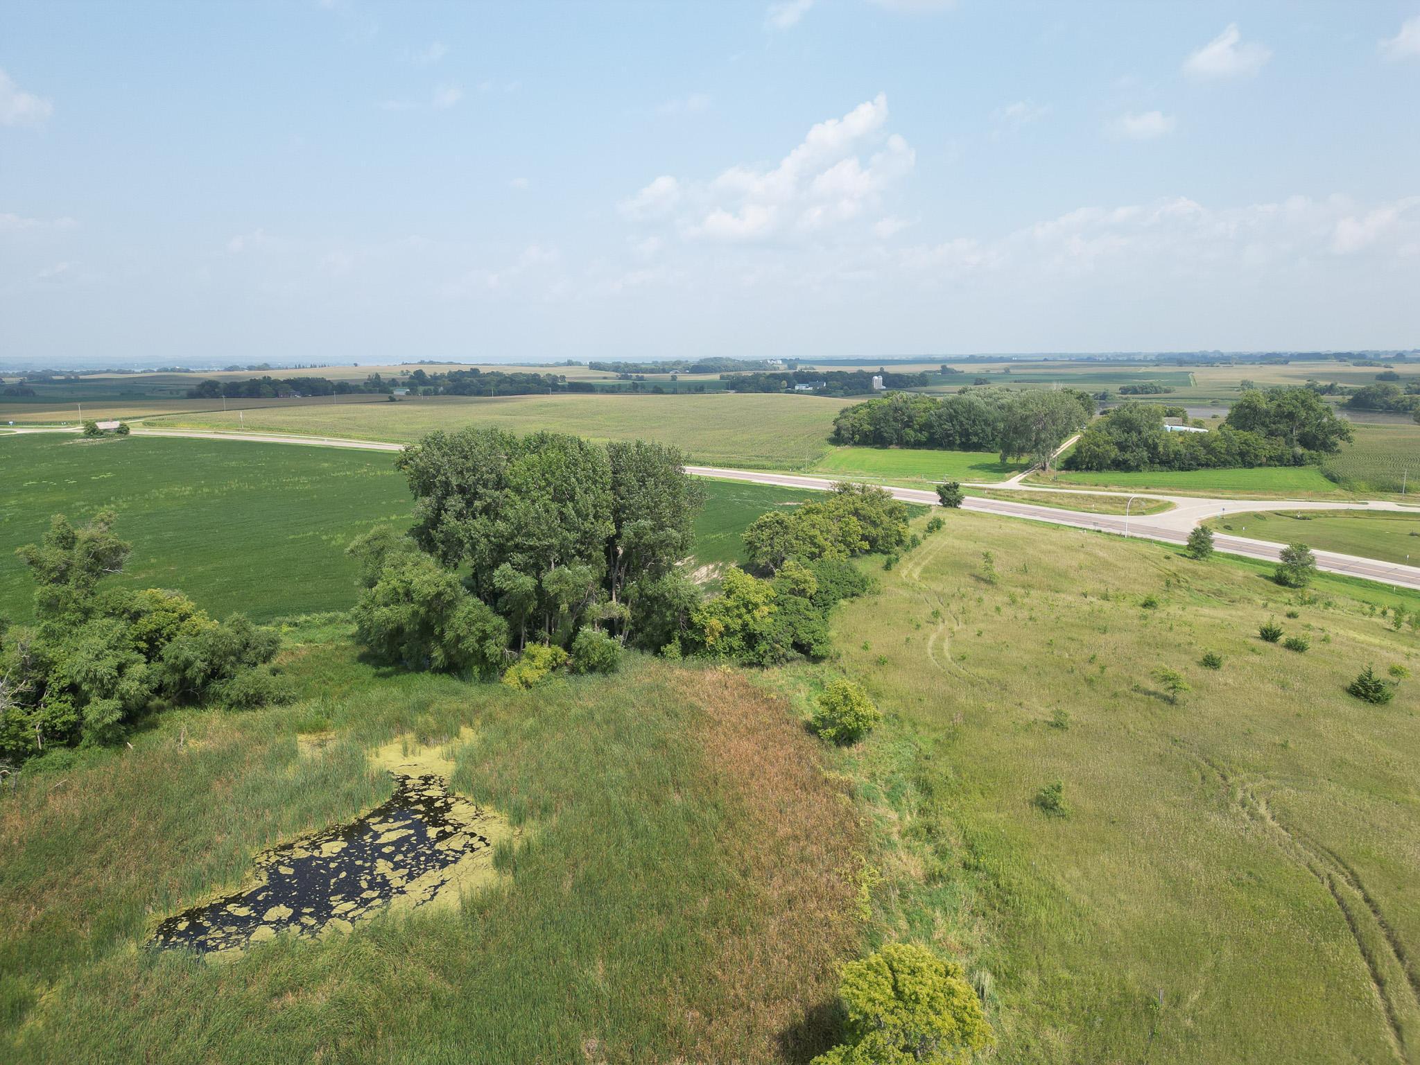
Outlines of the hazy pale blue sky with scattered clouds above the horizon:
M1420 0L0 0L0 362L1420 345Z

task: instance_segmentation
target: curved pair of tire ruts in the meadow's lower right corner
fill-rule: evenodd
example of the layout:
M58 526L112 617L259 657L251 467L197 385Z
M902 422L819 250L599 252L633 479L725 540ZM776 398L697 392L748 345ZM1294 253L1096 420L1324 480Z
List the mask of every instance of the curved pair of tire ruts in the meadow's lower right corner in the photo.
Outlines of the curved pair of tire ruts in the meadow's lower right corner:
M1285 855L1309 872L1340 910L1356 950L1370 977L1372 990L1386 1020L1386 1037L1396 1061L1411 1065L1411 1039L1420 1035L1420 980L1409 951L1384 910L1356 870L1333 851L1278 819L1254 784L1233 777L1204 754L1184 751L1223 784L1228 805L1262 828Z

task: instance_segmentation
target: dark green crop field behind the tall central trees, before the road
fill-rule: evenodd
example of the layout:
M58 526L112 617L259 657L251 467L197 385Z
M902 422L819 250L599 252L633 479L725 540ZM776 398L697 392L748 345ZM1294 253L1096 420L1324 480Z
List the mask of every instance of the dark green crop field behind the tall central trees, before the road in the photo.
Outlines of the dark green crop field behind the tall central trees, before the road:
M696 564L740 558L740 534L775 506L814 493L703 480ZM31 616L14 550L50 515L87 521L112 507L133 545L121 578L180 588L217 616L254 621L344 611L355 602L345 545L379 521L408 525L413 501L393 454L334 447L129 436L88 443L26 435L0 442L0 616Z

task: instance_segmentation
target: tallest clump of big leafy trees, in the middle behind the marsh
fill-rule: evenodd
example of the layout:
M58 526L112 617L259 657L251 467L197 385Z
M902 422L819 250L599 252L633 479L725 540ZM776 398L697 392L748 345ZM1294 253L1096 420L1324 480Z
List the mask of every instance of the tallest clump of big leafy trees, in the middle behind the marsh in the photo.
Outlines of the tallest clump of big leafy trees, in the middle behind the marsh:
M356 633L379 657L491 676L532 645L575 652L586 629L659 649L699 599L676 562L701 493L673 447L464 429L398 466L413 528L349 548Z

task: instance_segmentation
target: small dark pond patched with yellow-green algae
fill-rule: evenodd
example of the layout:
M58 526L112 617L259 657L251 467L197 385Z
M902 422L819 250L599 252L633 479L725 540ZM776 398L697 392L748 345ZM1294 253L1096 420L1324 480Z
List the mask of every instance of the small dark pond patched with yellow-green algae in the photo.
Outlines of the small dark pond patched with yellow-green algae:
M469 736L463 730L460 740ZM395 740L371 761L395 778L388 801L346 825L263 852L250 886L168 917L155 946L220 956L280 932L349 932L375 912L450 905L497 882L494 848L515 831L450 791L452 758Z

